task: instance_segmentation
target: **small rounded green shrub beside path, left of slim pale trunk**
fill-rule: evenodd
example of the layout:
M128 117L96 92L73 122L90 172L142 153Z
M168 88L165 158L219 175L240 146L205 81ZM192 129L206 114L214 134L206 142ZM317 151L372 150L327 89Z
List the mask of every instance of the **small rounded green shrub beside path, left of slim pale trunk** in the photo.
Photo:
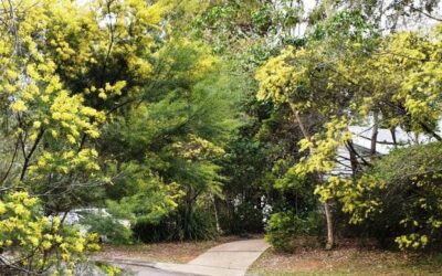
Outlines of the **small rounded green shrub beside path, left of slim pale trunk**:
M292 253L299 247L318 246L318 236L323 230L319 214L311 212L301 217L292 211L272 214L265 240L276 251Z

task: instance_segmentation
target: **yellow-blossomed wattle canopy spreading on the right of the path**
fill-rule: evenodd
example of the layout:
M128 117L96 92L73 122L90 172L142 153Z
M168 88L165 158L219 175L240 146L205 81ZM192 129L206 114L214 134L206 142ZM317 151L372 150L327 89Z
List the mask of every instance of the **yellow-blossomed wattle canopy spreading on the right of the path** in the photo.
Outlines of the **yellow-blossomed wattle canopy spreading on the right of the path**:
M375 147L375 142L367 149L368 158L364 157L364 150L359 156L357 150L351 150L348 129L366 123L375 128L376 121L376 127L383 130L401 128L419 137L419 141L410 141L411 145L421 144L422 136L425 136L425 142L441 139L441 30L442 24L439 24L429 32L402 31L367 38L364 42L335 41L334 38L308 40L303 47L286 47L255 74L260 100L288 106L296 117L294 121L299 125L306 120L305 125L311 127L307 115L320 121L319 126L307 129L314 132L299 141L301 151L306 155L290 172L298 178L313 176L317 181L315 193L323 202L338 201L343 211L349 214L350 223L367 222L389 210L388 197L383 198L390 192L389 185L410 189L407 191L413 197L398 195L404 197L398 201L403 201L400 204L407 210L400 214L400 225L394 225L403 230L397 233L407 233L396 238L403 250L423 248L433 236L439 236L435 233L440 233L442 225L438 217L442 210L440 168L433 168L414 152L400 156L401 160L394 164L396 170L403 171L381 170L377 164L394 157L394 151L378 155L380 146ZM407 146L412 148L411 145ZM394 147L401 145L394 141ZM420 147L424 149L425 146ZM348 150L350 159L354 158L349 160L348 173L334 170L338 149ZM429 149L433 149L428 151L430 155L436 155L435 146ZM413 158L417 160L407 160ZM440 160L430 160L440 163ZM381 164L389 168L389 163ZM408 173L415 176L404 177Z

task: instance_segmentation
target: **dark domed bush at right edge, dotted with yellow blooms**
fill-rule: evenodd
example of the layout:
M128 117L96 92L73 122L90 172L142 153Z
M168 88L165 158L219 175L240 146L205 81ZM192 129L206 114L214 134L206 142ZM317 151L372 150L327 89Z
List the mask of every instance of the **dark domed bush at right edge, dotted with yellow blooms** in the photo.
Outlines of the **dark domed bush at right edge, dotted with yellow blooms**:
M441 151L440 142L392 151L369 172L370 185L362 185L361 179L347 188L359 191L347 201L348 211L371 224L386 244L394 241L403 250L440 247Z

